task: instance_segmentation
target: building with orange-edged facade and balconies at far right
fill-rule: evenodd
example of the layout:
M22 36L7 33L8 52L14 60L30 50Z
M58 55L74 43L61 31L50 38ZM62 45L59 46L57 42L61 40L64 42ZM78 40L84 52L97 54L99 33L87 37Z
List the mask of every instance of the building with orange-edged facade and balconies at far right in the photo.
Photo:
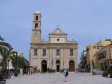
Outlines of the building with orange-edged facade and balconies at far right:
M112 44L103 47L97 52L98 66L100 70L108 70L112 67Z

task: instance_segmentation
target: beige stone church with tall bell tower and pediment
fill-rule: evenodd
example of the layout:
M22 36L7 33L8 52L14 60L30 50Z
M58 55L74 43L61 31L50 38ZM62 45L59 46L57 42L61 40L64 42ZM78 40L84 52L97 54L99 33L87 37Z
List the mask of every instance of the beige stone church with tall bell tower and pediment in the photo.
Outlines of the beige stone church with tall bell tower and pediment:
M75 72L78 68L78 42L69 41L67 34L56 28L49 34L49 40L41 39L41 13L33 14L32 37L29 62L31 72L47 72L47 69L67 69Z

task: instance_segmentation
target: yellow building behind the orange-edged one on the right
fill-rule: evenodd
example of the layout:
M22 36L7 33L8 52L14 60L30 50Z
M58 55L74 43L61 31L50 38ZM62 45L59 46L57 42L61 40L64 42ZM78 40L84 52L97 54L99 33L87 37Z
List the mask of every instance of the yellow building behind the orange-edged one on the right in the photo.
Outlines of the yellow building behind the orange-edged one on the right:
M100 51L103 47L111 44L109 40L101 40L96 44L90 44L86 47L87 55L87 65L90 67L90 71L95 68L98 68L98 56L97 52Z

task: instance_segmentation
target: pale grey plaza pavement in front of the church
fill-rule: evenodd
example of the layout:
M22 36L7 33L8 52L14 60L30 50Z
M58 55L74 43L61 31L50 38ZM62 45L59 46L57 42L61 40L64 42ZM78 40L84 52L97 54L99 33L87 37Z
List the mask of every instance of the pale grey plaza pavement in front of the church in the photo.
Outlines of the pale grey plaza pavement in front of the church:
M65 80L62 73L38 73L13 77L8 79L6 84L112 84L112 78L71 72Z

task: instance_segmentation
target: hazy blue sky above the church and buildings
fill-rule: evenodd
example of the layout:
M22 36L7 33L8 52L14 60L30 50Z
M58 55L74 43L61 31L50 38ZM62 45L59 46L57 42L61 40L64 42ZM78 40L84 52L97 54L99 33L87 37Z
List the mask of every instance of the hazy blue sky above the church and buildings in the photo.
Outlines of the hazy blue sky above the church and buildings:
M0 35L29 59L33 13L42 14L42 39L57 25L78 44L78 60L90 43L112 38L112 0L0 0Z

